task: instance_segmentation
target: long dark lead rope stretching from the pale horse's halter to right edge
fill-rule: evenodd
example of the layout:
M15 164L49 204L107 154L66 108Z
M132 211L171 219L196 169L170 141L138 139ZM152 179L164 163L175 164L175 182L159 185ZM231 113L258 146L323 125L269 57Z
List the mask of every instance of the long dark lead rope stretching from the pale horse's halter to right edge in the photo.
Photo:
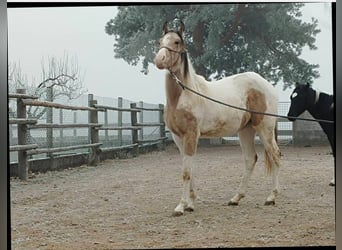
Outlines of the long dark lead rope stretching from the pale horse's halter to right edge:
M184 90L184 89L187 89L189 90L190 92L198 95L198 96L201 96L205 99L208 99L212 102L216 102L218 104L221 104L221 105L224 105L224 106L227 106L227 107L230 107L230 108L233 108L233 109L238 109L238 110L242 110L242 111L246 111L246 112L249 112L249 113L253 113L253 114L258 114L258 115L267 115L267 116L274 116L274 117L278 117L278 118L285 118L285 119L296 119L296 120L302 120L302 121L310 121L310 122L325 122L325 123L335 123L334 121L330 121L330 120L322 120L322 119L310 119L310 118L301 118L301 117L295 117L295 116L285 116L285 115L278 115L278 114L272 114L272 113L266 113L266 112L259 112L259 111L256 111L256 110L250 110L250 109L245 109L245 108L241 108L241 107L238 107L238 106L234 106L234 105L231 105L231 104L228 104L228 103L224 103L224 102L221 102L219 100L216 100L214 98L211 98L209 96L206 96L196 90L193 90L191 88L189 88L188 86L186 86L184 83L182 83L181 80L179 80L179 78L177 77L177 75L171 71L169 69L169 72L170 72L170 75L171 77L176 81L176 83Z

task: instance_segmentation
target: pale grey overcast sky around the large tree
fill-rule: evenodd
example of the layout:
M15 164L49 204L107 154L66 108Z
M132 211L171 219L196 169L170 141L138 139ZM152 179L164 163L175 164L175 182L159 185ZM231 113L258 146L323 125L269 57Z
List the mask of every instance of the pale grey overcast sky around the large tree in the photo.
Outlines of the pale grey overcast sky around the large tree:
M307 3L302 19L318 19L321 32L316 36L317 50L304 48L302 58L319 64L321 77L314 87L333 93L332 27L330 3ZM42 59L65 53L76 56L84 75L87 93L101 97L119 96L147 103L165 103L165 71L150 65L149 74L141 65L128 65L114 58L114 37L105 33L106 23L115 17L113 7L58 7L8 9L8 62L20 63L23 74L34 84L41 81ZM291 89L276 86L280 101L289 101Z

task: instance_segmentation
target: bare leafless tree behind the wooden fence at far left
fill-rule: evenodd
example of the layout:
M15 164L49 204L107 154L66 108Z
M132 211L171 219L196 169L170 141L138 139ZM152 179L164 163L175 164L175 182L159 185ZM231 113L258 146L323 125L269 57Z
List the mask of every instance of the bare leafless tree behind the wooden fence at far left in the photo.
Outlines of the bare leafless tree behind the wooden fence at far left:
M49 101L55 101L58 97L65 96L69 100L77 99L86 92L83 86L83 75L79 69L76 57L69 59L67 54L62 58L55 56L46 60L42 59L42 75L39 84L35 84L34 78L31 83L28 81L20 64L9 64L8 85L9 92L15 93L16 89L26 89L29 95L37 96L39 99L46 100L47 88L53 88L52 98ZM9 107L10 116L15 117L15 109ZM28 106L27 115L29 118L41 118L46 113L46 108Z

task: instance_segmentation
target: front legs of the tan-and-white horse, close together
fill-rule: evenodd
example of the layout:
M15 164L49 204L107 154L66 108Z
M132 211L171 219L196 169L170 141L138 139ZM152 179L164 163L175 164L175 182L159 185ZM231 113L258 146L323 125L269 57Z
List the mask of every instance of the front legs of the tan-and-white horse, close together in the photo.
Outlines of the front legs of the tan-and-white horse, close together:
M183 193L181 200L174 210L174 216L180 216L184 214L184 211L194 210L194 200L196 194L194 191L194 180L192 174L192 160L197 148L197 136L185 136L180 138L174 136L174 141L178 148L180 149L182 155L182 165L183 165Z

